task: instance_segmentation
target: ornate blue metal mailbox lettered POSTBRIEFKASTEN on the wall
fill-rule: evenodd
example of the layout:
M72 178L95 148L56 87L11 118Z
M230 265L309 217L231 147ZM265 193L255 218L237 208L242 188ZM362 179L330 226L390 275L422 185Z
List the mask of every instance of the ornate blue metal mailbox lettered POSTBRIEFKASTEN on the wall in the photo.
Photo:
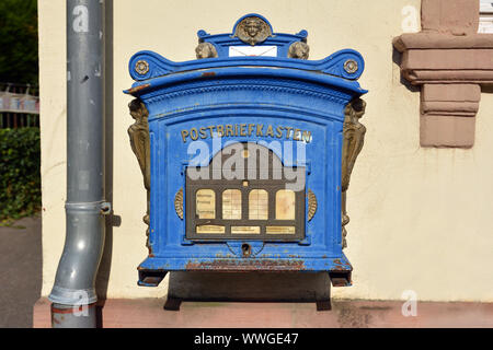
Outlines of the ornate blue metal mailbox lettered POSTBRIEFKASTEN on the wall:
M168 271L326 271L351 285L345 192L363 147L363 57L308 60L259 14L198 32L196 60L139 51L128 132L148 189L140 285Z

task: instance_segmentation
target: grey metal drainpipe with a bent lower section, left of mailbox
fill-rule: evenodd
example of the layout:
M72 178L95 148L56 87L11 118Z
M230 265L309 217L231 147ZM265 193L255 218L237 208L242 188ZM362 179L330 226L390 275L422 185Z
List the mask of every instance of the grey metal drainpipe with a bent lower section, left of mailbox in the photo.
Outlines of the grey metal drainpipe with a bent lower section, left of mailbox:
M67 0L66 241L48 299L54 328L96 326L104 246L104 1Z

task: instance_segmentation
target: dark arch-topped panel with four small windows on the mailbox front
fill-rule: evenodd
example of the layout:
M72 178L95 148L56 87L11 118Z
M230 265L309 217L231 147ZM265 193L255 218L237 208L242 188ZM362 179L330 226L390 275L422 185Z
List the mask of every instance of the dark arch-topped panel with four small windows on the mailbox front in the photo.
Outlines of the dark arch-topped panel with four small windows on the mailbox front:
M214 168L217 164L222 168ZM225 170L225 165L229 168ZM286 170L290 171L289 180ZM296 179L302 184L298 190L287 186L295 171L301 177ZM191 175L198 173L200 178ZM185 196L188 240L300 241L305 237L305 167L285 167L263 145L230 144L208 166L188 167Z

